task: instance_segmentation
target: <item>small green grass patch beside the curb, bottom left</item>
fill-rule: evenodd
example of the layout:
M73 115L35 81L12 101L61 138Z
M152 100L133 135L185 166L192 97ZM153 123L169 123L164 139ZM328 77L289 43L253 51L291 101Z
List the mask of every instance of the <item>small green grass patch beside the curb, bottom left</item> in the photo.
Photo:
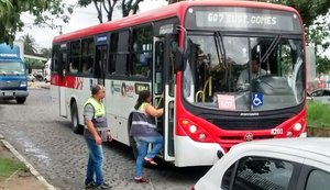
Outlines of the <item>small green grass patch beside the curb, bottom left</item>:
M16 171L26 171L26 166L18 160L0 158L0 177L8 178Z

